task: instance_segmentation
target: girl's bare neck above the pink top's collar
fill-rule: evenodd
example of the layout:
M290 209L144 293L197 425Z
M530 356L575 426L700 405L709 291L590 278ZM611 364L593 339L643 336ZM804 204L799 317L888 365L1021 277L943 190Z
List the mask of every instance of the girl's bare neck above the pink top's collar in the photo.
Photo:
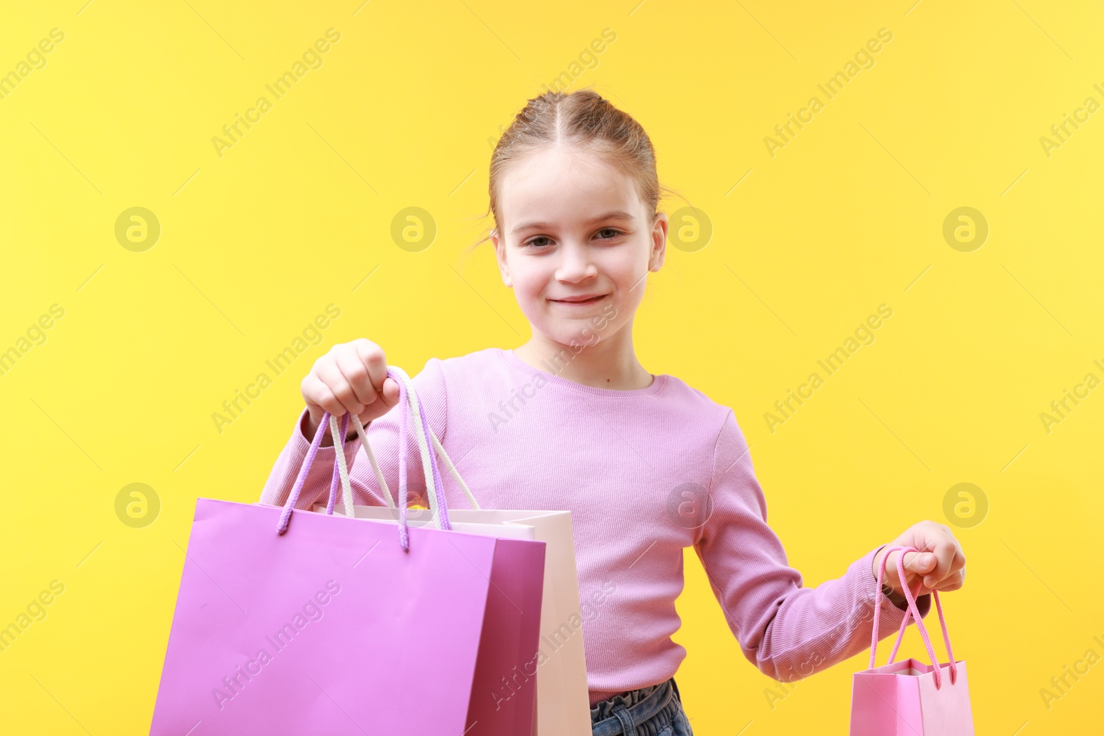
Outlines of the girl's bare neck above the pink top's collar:
M631 321L605 340L574 348L534 329L529 342L513 354L531 367L592 388L647 388L654 380L636 359Z

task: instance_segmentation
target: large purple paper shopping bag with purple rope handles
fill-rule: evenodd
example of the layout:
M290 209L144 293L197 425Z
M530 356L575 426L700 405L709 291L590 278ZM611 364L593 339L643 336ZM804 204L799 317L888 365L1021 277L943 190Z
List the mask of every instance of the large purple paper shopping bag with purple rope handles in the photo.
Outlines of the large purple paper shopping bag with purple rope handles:
M329 513L293 513L328 420L283 509L197 501L150 734L532 733L535 687L493 693L539 646L544 542L453 531L433 455L440 527L408 526L408 416L397 537L332 515L341 452Z

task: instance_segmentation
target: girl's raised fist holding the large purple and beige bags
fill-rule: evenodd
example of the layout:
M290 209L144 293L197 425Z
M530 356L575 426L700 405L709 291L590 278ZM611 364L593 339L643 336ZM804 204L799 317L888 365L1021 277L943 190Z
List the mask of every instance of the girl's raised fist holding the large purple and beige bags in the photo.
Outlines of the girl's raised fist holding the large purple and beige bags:
M310 415L307 437L314 437L323 412L338 418L350 412L368 424L399 403L399 384L388 376L383 350L364 338L330 348L315 361L301 388Z

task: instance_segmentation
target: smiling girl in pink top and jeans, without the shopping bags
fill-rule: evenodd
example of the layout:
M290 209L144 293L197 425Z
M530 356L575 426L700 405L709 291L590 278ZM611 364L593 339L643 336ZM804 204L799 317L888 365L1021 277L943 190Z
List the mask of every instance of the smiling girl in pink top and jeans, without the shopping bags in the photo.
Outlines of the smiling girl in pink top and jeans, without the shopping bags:
M431 359L414 378L433 430L482 508L571 511L580 597L593 604L583 639L596 735L691 734L673 680L686 650L671 641L687 546L744 655L783 682L867 648L874 606L887 619L883 636L893 632L907 609L904 585L915 587L926 616L931 590L960 588L965 573L951 530L925 521L891 543L921 551L905 555L906 580L889 564L888 585L877 589L881 545L842 577L802 586L767 526L732 409L675 376L652 375L634 352L645 278L662 266L667 244L660 191L648 136L598 94L529 100L491 156L488 214L502 281L532 337L513 350ZM383 471L397 477L400 417L388 412L399 386L385 370L383 350L365 339L318 359L263 503L287 500L323 410L371 422ZM298 509L327 498L329 442ZM343 451L352 456L354 501L383 505L358 447L350 428ZM411 488L424 488L411 465ZM455 481L445 483L449 505L466 508Z

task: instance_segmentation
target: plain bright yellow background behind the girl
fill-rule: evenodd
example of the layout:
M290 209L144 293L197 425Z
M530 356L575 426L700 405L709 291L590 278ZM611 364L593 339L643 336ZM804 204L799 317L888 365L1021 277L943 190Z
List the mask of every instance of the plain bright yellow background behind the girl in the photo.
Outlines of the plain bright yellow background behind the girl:
M0 623L65 585L0 653L6 733L147 733L194 500L257 499L330 345L368 337L416 372L528 338L489 244L465 255L489 225L490 143L606 28L571 88L634 115L686 198L667 211L713 225L650 278L645 366L735 409L806 585L915 522L954 524L969 574L945 609L977 733L1098 732L1104 663L1049 708L1040 690L1104 655L1104 390L1049 434L1039 418L1104 377L1104 113L1049 157L1039 141L1104 102L1097 6L84 1L0 24L0 72L65 34L0 99L0 349L65 310L0 375ZM323 65L220 158L212 137L329 28ZM874 66L825 100L882 28ZM814 95L771 157L764 137ZM132 206L161 226L141 253L115 237ZM391 236L408 206L437 227L418 252ZM959 206L989 224L970 253L942 235ZM212 413L329 303L321 344L220 434ZM772 433L764 413L881 303L875 342ZM161 502L142 529L115 512L134 482ZM988 500L973 527L944 515L959 482ZM868 654L772 707L785 691L741 654L692 550L678 608L696 734L846 733ZM927 659L914 629L902 651Z

